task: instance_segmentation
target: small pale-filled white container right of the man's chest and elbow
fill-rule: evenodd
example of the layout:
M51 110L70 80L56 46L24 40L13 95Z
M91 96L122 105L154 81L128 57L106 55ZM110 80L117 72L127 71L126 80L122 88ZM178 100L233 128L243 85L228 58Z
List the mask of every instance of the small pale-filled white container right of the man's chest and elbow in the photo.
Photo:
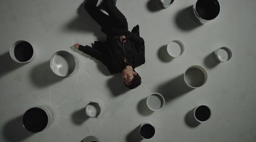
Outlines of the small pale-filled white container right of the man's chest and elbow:
M181 41L174 40L168 43L166 50L171 57L177 58L184 52L184 45Z

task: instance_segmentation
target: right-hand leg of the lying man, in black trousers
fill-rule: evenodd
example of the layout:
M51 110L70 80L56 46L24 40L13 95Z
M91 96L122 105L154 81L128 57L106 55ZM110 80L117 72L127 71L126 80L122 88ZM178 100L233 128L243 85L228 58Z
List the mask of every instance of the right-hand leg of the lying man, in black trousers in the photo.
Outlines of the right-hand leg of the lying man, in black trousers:
M125 16L116 8L116 0L104 0L104 8L114 26L128 28Z

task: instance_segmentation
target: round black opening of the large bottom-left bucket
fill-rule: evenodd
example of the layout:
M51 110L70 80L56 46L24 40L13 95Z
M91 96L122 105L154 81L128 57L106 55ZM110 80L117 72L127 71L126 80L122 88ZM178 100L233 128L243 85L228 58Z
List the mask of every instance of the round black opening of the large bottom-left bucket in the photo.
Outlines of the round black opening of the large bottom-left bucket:
M40 132L48 124L48 117L41 108L30 108L24 113L22 123L29 132Z

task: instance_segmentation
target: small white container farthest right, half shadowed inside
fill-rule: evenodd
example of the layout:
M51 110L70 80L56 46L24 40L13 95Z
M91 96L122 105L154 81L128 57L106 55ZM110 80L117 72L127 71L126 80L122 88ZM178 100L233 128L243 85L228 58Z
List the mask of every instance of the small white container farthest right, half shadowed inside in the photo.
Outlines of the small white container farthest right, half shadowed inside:
M213 58L217 61L217 62L225 62L230 60L232 57L232 52L229 48L227 47L221 47L218 50L215 50L213 52Z

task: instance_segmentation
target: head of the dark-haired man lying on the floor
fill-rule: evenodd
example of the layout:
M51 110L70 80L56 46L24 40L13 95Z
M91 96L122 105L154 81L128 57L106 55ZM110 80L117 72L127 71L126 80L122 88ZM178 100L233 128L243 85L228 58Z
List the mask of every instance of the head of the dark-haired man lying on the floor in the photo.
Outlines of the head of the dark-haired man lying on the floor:
M129 89L135 89L141 84L141 77L138 73L136 73L133 69L125 68L122 71L122 78L124 80L124 84Z

